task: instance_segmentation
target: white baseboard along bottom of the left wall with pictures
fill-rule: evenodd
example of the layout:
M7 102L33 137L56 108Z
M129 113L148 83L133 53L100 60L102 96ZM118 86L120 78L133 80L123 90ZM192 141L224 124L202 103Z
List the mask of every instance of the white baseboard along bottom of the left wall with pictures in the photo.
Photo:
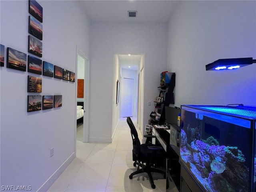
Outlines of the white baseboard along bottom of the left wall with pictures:
M68 159L42 184L42 186L37 190L37 192L46 192L50 186L57 180L57 178L62 174L62 172L68 167L68 165L76 158L76 153L73 152Z

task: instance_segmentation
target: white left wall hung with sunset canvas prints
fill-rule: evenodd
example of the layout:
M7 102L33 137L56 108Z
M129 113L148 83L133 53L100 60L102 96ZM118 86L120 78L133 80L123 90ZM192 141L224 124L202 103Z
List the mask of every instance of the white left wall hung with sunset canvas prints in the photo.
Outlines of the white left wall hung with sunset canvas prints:
M43 7L42 60L75 72L76 45L89 54L90 23L80 2L37 2ZM1 44L28 54L28 1L0 4ZM28 113L28 75L38 76L6 68L6 62L0 68L0 182L46 191L75 157L76 83L41 76L39 95L61 94L62 107Z

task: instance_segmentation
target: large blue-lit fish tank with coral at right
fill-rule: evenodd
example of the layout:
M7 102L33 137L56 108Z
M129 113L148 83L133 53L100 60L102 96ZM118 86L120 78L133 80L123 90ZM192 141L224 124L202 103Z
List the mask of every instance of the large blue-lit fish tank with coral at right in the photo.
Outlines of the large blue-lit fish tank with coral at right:
M256 107L181 106L180 163L205 192L256 192Z

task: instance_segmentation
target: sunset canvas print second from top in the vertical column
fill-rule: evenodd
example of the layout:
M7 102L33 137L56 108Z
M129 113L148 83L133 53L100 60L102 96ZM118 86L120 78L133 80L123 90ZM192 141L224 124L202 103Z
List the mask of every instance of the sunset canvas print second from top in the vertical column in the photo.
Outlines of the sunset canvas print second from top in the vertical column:
M33 16L28 16L28 32L36 38L43 40L43 25Z

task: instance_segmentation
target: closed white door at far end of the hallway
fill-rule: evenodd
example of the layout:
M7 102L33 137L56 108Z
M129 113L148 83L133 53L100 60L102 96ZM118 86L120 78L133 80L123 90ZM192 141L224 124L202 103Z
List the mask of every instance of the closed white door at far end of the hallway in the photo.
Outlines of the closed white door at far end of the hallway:
M132 116L133 79L123 78L121 91L121 116Z

